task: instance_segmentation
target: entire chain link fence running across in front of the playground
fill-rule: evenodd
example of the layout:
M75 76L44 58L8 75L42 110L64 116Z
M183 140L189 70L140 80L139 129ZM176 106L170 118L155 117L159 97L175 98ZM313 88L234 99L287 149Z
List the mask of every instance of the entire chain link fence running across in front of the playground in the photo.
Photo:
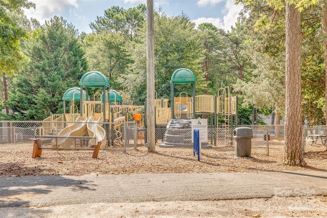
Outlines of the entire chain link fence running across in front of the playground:
M256 155L284 154L283 125L250 125L253 138L251 152ZM208 142L201 144L201 153L219 156L219 153L235 153L233 135L235 128L208 128ZM0 152L33 146L34 138L44 139L44 146L50 149L63 147L72 150L90 147L102 140L102 150L147 152L147 129L138 127L135 122L104 123L96 120L80 122L7 122L0 123ZM56 138L56 136L60 136ZM53 138L51 138L53 137ZM65 139L65 137L67 137ZM76 137L75 139L71 137ZM84 138L83 138L84 137ZM91 137L91 139L90 139ZM68 139L69 138L69 139ZM302 148L305 152L326 150L325 126L303 128ZM278 140L279 143L276 143ZM181 156L186 151L193 152L192 129L190 123L182 123L175 128L157 127L155 129L156 152ZM5 145L7 145L5 147Z

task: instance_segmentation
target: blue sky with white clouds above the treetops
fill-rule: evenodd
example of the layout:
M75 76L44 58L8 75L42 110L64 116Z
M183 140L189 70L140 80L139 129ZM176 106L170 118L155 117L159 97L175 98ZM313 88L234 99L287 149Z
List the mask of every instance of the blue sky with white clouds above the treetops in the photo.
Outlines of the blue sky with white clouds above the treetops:
M25 11L27 17L36 18L41 24L54 15L62 16L72 23L79 32L91 33L89 24L95 22L97 16L112 6L124 9L145 4L146 0L29 0L36 9ZM235 0L153 0L154 10L168 16L186 14L191 21L199 25L202 22L213 23L217 28L230 30L235 26L242 5L235 5Z

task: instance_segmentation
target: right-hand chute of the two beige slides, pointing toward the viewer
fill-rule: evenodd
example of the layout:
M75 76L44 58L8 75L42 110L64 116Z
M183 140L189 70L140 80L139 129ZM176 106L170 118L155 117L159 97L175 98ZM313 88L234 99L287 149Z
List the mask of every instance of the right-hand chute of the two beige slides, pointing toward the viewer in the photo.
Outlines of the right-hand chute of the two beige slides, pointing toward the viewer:
M86 124L88 136L96 137L96 139L88 141L88 146L94 146L98 141L101 141L100 150L104 150L107 140L106 131L100 126L99 122L103 122L103 116L99 117L98 120L94 120L94 117L91 117Z

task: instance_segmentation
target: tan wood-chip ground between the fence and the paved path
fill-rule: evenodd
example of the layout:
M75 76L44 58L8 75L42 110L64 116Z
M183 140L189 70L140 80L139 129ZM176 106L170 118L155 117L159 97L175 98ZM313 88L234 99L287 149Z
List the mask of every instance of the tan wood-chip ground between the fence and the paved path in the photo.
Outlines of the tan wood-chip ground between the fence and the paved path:
M202 149L200 161L192 149L106 147L98 158L92 151L42 151L31 158L33 143L0 145L0 177L33 175L146 174L146 173L228 173L269 171L327 171L327 151L305 153L306 167L283 164L283 141L269 143L269 156L260 148L252 148L251 158L235 158L228 151Z

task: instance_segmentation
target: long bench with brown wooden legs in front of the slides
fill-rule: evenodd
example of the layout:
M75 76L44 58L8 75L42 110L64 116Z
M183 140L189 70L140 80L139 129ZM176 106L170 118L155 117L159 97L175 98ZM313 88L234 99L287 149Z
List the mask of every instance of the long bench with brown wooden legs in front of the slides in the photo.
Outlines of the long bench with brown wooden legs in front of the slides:
M82 139L82 140L89 140L89 139L95 139L95 137L87 137L87 136L53 136L53 135L40 135L40 136L35 136L35 138L32 138L34 141L33 144L33 153L32 153L32 158L36 158L42 155L42 150L57 150L57 151L93 151L92 158L98 158L98 154L100 151L100 146L101 146L101 141L98 141L97 144L95 144L94 148L49 148L49 147L42 147L42 140L46 139ZM56 143L57 144L57 143ZM76 143L75 143L76 145Z

